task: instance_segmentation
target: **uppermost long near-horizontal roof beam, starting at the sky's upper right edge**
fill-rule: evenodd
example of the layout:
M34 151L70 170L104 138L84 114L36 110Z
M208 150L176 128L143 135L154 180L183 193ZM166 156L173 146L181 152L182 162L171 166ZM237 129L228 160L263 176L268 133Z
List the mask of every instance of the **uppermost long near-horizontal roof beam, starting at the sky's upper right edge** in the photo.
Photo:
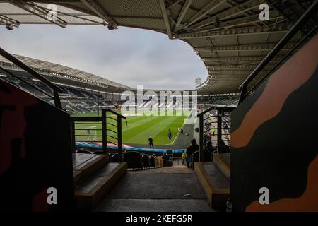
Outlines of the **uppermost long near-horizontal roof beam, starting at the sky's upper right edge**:
M280 25L273 30L269 28L234 28L226 31L216 32L191 32L181 35L175 35L175 39L190 39L198 37L219 37L219 36L235 36L235 35L262 35L262 34L275 34L288 32L288 28L284 25Z

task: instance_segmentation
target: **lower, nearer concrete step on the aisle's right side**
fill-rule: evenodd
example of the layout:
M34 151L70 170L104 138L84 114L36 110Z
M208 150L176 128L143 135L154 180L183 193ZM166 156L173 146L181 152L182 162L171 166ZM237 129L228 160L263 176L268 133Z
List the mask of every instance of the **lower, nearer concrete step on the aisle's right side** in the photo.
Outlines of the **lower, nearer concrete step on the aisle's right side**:
M230 180L213 162L196 162L194 171L211 207L216 210L225 210L225 204L230 195Z

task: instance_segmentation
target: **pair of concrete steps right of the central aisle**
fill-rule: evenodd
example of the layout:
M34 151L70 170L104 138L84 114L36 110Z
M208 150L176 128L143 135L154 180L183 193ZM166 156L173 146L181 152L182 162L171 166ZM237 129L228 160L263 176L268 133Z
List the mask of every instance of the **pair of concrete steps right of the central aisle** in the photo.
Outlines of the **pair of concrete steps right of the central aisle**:
M196 162L194 172L211 207L225 210L230 196L230 154L213 154L213 162Z

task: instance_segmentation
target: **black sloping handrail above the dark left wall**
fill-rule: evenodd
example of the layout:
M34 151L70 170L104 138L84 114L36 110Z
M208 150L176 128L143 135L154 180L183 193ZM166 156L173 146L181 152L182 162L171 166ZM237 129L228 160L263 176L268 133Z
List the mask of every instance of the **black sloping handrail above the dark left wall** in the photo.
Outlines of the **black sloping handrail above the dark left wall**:
M54 83L49 81L44 76L41 76L39 73L37 73L36 71L31 69L26 64L23 64L23 62L21 62L20 60L16 59L16 57L13 57L13 55L9 54L8 52L4 51L4 49L0 48L0 55L2 57L4 57L4 58L8 59L8 61L11 61L13 64L16 64L16 66L19 66L24 71L30 73L30 75L32 75L35 78L37 78L40 81L42 81L42 83L45 83L45 85L47 85L49 88L52 89L53 96L49 95L45 91L40 90L39 88L35 87L35 85L31 85L30 83L28 83L27 81L23 80L22 78L19 78L18 76L15 76L13 73L9 72L8 70L3 69L2 67L0 67L0 69L2 71L4 71L5 73L7 73L10 76L13 76L13 77L19 79L20 81L23 81L24 83L30 85L30 87L35 88L36 90L40 91L41 93L43 93L43 94L47 95L48 97L52 98L54 100L55 107L58 107L59 109L62 109L61 100L59 99L59 93L63 93L63 90L61 88L59 88L57 85L54 85Z

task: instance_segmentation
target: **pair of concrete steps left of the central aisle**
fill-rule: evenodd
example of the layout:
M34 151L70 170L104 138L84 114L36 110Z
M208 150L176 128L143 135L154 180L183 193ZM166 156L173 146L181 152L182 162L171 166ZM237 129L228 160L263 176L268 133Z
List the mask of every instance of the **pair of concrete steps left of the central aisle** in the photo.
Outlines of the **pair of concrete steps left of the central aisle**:
M109 162L108 155L73 153L76 208L92 210L126 172L125 162Z

